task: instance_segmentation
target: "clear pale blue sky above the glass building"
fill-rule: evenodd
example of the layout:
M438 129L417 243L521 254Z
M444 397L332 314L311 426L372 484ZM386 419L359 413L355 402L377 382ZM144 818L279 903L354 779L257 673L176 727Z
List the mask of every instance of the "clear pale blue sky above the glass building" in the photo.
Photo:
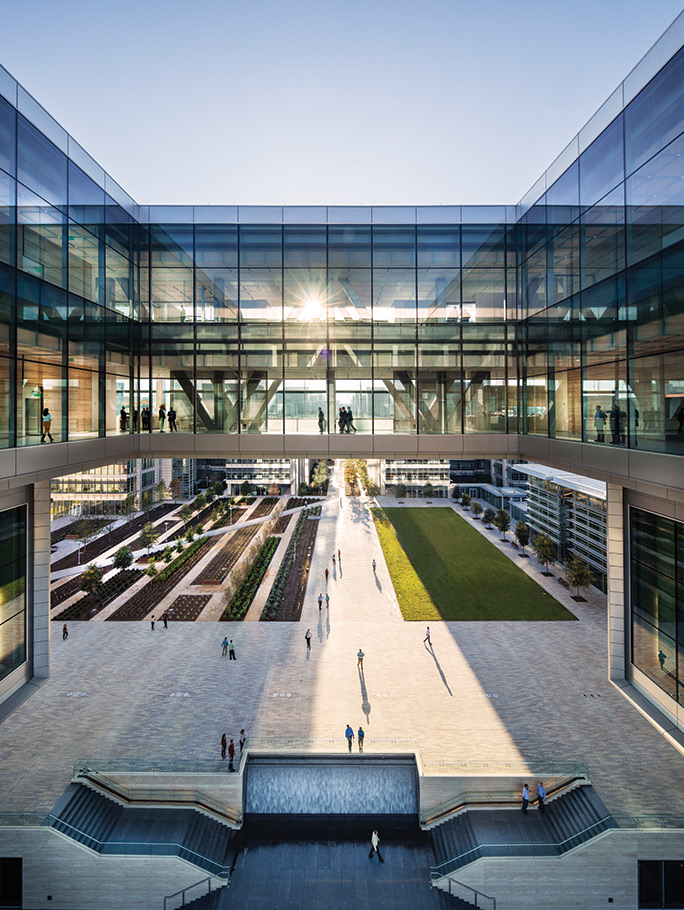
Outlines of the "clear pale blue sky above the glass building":
M0 62L154 204L515 203L679 0L21 0Z

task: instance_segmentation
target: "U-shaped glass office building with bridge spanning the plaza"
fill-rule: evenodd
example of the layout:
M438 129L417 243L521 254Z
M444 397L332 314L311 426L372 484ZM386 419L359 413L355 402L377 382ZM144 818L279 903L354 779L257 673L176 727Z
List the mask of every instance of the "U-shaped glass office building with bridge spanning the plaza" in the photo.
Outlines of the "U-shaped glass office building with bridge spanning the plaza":
M615 485L609 523L632 491L681 528L680 20L518 205L140 205L0 70L2 477L30 499L74 462L196 438L238 458L343 442L560 463ZM624 672L659 647L626 640Z

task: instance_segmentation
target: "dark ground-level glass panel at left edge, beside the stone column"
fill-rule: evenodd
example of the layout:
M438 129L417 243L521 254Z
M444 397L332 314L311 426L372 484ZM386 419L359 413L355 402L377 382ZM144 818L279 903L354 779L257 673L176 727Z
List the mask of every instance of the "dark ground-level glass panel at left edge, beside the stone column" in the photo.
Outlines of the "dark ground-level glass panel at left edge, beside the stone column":
M0 680L26 661L26 508L0 512Z

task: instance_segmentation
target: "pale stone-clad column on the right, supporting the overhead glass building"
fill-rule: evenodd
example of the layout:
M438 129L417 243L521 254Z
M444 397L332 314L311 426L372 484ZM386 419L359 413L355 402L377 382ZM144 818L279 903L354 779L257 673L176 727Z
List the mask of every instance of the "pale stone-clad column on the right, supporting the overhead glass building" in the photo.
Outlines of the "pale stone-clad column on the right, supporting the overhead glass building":
M625 678L624 489L606 484L606 564L608 569L608 677Z

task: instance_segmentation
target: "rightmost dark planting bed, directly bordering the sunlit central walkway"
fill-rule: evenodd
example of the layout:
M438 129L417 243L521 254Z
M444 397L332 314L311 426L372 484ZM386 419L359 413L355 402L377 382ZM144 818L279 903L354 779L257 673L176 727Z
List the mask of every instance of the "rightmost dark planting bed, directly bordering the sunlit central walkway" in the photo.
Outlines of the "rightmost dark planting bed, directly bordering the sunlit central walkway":
M298 622L302 613L308 569L318 532L321 507L300 513L285 556L273 582L261 619L264 621ZM309 517L312 516L312 517Z

